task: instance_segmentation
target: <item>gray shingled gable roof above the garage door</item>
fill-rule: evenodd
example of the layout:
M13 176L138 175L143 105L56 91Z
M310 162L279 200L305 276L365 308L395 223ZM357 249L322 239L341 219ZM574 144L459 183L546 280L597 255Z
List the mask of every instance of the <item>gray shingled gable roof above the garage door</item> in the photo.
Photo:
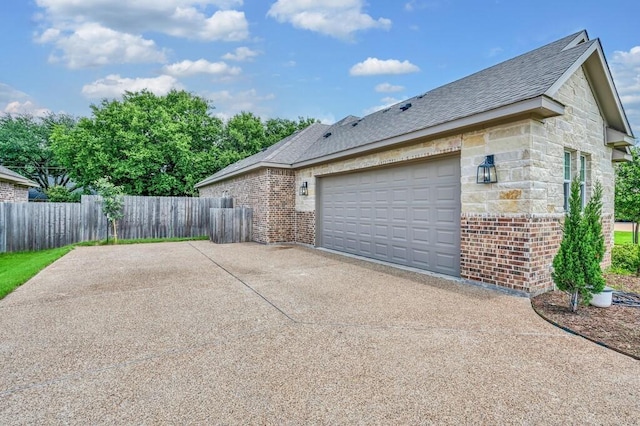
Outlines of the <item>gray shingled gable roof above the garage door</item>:
M633 134L602 46L598 39L589 40L586 31L581 31L364 118L345 117L315 141L302 138L304 149L296 147L296 140L289 140L282 145L282 150L295 149L299 155L292 154L288 160L293 160L283 161L280 166L309 166L492 120L561 115L564 105L554 96L581 66L594 86L610 128L607 142L628 153ZM257 164L256 159L251 158L245 160ZM229 173L238 174L239 169L233 166L196 187L226 179Z

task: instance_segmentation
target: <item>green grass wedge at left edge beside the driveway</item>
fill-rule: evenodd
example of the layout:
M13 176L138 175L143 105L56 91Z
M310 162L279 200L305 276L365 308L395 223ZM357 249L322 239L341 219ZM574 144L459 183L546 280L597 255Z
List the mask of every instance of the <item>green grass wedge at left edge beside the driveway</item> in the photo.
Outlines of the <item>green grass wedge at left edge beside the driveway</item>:
M73 246L0 254L0 299L71 250Z

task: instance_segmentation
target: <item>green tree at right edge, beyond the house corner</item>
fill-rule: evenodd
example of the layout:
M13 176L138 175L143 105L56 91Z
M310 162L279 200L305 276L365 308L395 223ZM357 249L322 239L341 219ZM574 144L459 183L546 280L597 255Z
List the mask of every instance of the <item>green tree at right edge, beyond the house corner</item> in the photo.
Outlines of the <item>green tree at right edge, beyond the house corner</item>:
M634 222L633 242L638 244L640 223L640 149L631 148L632 161L616 167L615 210L617 220Z

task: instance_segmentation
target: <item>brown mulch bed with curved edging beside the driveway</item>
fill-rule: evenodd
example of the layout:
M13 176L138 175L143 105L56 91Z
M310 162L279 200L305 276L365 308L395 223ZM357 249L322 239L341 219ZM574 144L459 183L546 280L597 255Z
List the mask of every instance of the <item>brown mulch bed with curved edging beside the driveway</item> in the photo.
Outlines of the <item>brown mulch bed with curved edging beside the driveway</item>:
M640 294L640 277L606 274L607 285ZM640 308L612 305L609 308L583 306L569 309L569 295L551 291L531 299L538 314L576 334L611 349L640 359Z

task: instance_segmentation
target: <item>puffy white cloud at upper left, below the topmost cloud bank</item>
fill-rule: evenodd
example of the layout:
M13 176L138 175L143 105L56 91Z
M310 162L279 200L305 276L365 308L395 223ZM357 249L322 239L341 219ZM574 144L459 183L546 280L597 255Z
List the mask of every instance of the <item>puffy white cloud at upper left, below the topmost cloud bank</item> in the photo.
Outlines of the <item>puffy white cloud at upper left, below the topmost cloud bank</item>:
M120 33L100 24L87 23L79 26L71 35L49 29L38 41L53 43L56 53L51 61L65 62L69 68L86 68L108 64L164 62L165 55L153 40L141 36Z

